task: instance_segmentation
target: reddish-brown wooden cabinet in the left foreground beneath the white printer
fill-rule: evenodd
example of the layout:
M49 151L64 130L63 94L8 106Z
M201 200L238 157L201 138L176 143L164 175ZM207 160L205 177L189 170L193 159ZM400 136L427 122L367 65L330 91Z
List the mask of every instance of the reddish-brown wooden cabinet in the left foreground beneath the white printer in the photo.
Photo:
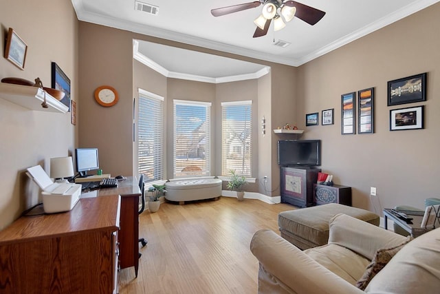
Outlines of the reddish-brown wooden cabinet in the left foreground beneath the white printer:
M0 293L118 293L120 196L22 216L0 231Z

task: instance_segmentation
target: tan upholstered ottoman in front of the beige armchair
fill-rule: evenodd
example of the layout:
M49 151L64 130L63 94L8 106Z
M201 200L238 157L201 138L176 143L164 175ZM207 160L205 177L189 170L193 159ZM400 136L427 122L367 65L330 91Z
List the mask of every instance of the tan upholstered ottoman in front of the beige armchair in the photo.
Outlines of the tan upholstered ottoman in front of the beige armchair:
M377 214L337 203L283 211L278 214L281 237L299 249L309 249L327 244L329 240L329 220L338 213L364 220L379 226Z

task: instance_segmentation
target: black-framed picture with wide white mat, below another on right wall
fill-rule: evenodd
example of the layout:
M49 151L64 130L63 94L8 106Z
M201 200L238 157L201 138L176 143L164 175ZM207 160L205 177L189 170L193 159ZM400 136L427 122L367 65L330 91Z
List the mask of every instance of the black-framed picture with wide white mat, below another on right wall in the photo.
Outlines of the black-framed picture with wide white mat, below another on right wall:
M390 110L390 131L423 129L425 105Z

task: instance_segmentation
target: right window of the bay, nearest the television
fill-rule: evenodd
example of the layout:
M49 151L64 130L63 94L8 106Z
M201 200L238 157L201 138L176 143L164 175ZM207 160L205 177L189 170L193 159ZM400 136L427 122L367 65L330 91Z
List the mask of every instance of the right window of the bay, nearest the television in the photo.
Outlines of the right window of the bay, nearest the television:
M221 103L221 174L252 176L252 101Z

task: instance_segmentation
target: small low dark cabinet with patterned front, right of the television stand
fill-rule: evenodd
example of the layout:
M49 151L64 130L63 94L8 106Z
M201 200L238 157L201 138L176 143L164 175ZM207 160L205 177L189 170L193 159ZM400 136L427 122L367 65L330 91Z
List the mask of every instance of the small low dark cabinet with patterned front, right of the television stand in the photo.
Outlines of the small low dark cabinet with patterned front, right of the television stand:
M339 203L351 206L351 187L315 184L314 198L316 205Z

